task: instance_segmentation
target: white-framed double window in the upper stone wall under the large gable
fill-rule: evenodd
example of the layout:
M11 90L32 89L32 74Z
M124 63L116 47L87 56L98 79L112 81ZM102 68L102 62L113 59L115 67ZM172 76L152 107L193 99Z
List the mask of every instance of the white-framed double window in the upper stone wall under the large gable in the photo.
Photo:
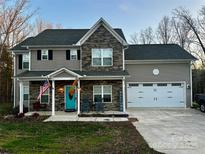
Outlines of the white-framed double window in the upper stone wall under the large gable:
M112 66L112 61L113 61L112 48L92 49L93 66Z

